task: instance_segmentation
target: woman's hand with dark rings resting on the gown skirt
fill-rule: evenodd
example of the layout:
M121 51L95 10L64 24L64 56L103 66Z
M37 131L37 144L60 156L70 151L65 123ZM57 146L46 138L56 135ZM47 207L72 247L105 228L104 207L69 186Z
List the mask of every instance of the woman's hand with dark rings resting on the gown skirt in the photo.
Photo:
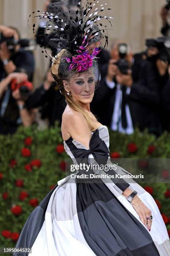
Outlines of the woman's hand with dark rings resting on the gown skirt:
M140 200L140 198L137 195L135 195L131 204L133 205L135 211L138 213L140 220L150 231L152 219L147 220L147 217L150 217L152 215L151 210L142 202L142 200Z

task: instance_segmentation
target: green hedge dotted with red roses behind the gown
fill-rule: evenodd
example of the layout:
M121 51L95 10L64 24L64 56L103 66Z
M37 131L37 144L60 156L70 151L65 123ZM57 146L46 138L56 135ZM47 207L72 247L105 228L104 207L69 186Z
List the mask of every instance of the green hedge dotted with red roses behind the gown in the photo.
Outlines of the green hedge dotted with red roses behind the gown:
M170 158L170 133L156 139L138 129L130 136L109 132L112 157ZM0 247L15 246L30 212L64 177L66 158L57 124L45 130L20 127L13 136L0 136ZM170 230L170 184L141 185L157 200Z

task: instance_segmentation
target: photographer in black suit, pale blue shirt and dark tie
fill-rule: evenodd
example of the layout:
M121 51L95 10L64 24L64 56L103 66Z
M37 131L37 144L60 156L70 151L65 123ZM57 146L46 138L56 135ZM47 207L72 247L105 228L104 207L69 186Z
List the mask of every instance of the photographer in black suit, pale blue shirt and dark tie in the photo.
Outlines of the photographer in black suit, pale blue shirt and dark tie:
M128 95L132 79L124 85L122 77L118 75L121 74L120 70L122 75L131 73L133 53L127 44L117 41L112 45L110 55L112 59L108 64L107 75L102 77L91 103L92 111L97 115L100 123L109 126L113 131L131 134L133 118L130 108L132 110L135 108L133 108L133 102L131 106L129 105Z

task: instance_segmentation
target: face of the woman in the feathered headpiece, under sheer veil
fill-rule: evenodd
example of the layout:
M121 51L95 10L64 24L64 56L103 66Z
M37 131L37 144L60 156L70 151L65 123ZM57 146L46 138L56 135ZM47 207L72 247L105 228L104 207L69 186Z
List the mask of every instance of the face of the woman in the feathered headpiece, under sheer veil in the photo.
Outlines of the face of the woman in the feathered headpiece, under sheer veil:
M71 92L72 97L81 103L88 104L92 101L95 92L95 77L92 69L73 74L68 82L63 81L63 85L67 92Z

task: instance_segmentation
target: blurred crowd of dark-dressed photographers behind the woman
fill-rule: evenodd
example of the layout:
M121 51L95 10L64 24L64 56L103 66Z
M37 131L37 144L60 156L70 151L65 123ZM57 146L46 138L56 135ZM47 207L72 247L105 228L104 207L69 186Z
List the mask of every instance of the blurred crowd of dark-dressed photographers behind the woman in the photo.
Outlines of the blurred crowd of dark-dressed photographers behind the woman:
M46 1L47 4L50 1ZM56 2L53 1L52 2ZM101 49L98 59L100 82L90 109L99 122L113 131L132 134L135 127L160 136L170 132L170 17L169 6L161 10L162 38L146 40L146 50L133 54L124 41L116 41L111 50ZM42 21L36 43L47 46ZM48 37L49 38L49 37ZM55 55L59 49L52 49ZM59 121L66 102L50 73L33 90L35 58L25 48L17 28L0 25L0 134L15 133L19 125L36 122L38 109L49 126Z

